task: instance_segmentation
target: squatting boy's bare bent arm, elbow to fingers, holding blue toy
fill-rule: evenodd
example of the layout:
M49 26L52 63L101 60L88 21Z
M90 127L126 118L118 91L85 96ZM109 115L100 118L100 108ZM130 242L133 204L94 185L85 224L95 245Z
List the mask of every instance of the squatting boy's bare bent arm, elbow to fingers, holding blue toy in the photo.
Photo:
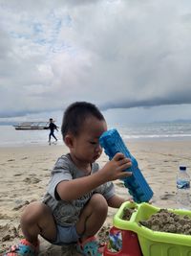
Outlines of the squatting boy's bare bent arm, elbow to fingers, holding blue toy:
M131 175L129 172L123 172L130 166L131 160L118 152L110 162L95 174L61 181L56 187L56 192L62 200L70 201L80 198L103 183Z

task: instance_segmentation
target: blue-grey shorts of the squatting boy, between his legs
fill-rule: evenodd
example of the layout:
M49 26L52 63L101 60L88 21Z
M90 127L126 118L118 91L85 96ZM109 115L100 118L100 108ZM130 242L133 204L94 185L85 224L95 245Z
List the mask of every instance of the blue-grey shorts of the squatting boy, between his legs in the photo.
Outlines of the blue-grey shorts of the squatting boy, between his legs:
M76 232L74 225L72 226L61 226L57 225L57 237L55 241L49 241L51 244L65 245L73 244L78 241L80 236Z

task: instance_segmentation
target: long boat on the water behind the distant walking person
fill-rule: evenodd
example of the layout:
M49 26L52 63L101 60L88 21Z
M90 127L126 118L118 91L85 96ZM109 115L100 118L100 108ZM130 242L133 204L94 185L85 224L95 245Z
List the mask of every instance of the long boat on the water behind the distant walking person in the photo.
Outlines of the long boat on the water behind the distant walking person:
M15 129L46 129L49 128L49 122L22 122L13 127Z

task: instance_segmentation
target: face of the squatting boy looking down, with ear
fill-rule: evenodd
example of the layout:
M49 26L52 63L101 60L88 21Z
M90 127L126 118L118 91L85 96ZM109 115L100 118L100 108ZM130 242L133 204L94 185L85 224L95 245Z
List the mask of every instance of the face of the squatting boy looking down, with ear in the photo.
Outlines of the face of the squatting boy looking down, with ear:
M70 150L74 158L84 164L95 162L102 152L98 139L105 130L105 121L100 121L94 116L88 117L82 124L79 134L73 138L73 148Z

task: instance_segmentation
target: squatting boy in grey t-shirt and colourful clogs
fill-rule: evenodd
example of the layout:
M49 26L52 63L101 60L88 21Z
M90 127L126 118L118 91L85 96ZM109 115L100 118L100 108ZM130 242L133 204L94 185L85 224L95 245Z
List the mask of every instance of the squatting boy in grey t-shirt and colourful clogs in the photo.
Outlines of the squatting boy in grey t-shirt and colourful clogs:
M77 102L66 109L61 131L70 152L56 161L43 202L32 202L23 213L26 239L5 255L37 255L39 234L52 244L77 243L82 255L102 255L96 232L107 217L108 206L118 208L124 202L111 181L131 175L123 172L131 166L130 159L119 152L99 169L98 139L105 130L105 119L96 105Z

